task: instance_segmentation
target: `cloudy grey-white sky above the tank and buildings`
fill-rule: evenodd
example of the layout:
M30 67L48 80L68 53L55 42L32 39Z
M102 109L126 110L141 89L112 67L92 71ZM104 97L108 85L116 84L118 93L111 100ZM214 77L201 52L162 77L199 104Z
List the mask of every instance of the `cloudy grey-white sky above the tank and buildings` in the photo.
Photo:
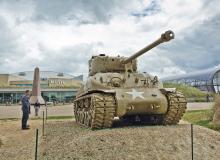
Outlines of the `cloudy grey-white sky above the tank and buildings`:
M220 64L219 0L0 0L0 73L88 71L91 55L129 56L166 30L175 40L138 59L160 77Z

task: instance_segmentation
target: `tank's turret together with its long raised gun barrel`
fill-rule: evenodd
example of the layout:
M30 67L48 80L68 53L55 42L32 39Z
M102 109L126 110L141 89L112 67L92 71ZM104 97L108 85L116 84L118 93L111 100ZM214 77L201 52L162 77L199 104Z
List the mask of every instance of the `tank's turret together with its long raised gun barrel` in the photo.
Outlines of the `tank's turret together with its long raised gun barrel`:
M89 75L92 76L96 73L106 73L106 72L126 72L126 71L137 71L137 60L136 58L146 53L147 51L153 49L163 42L168 42L174 39L173 31L166 31L161 35L159 39L153 43L147 45L145 48L136 52L132 56L125 57L110 57L105 54L100 54L99 56L93 56L89 60Z

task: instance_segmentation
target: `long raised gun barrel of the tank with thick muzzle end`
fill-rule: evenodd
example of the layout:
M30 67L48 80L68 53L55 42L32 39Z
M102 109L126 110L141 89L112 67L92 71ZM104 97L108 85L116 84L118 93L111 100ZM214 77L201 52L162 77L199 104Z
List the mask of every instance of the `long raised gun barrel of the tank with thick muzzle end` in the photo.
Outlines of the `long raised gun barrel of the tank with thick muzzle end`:
M136 52L132 56L130 56L130 57L126 58L125 60L123 60L123 63L127 64L127 63L131 62L133 59L136 59L137 57L141 56L145 52L147 52L147 51L151 50L152 48L158 46L159 44L161 44L163 42L168 42L171 39L174 39L174 32L171 31L171 30L166 31L165 33L161 34L161 37L159 39L157 39L153 43L149 44L148 46L144 47L140 51Z

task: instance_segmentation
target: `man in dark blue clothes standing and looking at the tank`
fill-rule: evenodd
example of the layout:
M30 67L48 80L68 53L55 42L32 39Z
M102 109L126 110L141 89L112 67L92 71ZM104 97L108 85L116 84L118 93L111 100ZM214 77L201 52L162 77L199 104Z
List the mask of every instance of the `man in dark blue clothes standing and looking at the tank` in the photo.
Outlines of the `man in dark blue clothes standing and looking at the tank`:
M23 116L22 116L22 129L25 130L25 129L30 129L29 126L27 125L27 121L28 121L28 118L29 118L29 114L31 113L30 112L30 102L29 102L29 99L30 99L30 91L29 90L26 90L25 91L25 94L22 96L21 98L21 102L22 102L22 112L23 112Z

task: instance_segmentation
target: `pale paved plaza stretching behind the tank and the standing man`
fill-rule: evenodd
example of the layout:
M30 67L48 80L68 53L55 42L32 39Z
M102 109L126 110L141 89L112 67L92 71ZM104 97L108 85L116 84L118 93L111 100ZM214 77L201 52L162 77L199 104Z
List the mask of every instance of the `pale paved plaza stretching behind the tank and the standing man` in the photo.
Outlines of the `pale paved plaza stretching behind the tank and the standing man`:
M201 110L210 109L213 103L188 103L187 110ZM48 106L47 107L48 116L72 116L73 115L73 105L61 105L61 106ZM42 117L45 107L40 108L39 115ZM21 106L0 106L0 119L4 118L21 118ZM34 107L31 107L31 115L34 116Z

